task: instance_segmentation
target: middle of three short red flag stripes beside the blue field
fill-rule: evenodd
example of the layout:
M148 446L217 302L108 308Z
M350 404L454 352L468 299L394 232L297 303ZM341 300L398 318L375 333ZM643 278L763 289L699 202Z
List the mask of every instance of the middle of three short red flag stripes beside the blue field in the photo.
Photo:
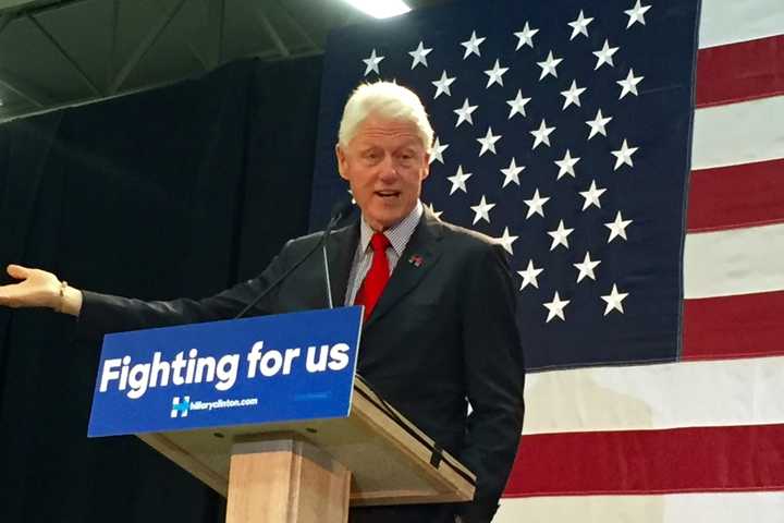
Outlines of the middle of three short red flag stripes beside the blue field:
M784 159L693 171L689 184L689 232L784 221Z

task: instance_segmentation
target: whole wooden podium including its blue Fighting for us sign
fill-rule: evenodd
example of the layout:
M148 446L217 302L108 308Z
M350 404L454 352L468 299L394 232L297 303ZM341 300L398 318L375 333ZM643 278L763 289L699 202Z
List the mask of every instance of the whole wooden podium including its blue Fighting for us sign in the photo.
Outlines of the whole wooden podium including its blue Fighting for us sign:
M137 435L228 497L230 523L473 499L474 475L355 375L362 314L108 335L88 436Z

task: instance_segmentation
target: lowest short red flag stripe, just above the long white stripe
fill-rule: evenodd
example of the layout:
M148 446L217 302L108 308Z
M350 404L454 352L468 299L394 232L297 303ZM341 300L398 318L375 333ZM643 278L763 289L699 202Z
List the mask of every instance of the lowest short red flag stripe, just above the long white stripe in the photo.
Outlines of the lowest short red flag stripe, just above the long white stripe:
M686 300L682 358L784 355L782 318L784 291Z

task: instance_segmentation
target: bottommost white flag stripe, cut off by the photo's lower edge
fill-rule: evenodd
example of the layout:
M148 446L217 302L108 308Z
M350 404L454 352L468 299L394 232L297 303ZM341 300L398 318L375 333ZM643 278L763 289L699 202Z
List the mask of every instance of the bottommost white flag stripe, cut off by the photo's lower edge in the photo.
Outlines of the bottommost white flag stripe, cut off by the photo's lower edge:
M504 499L493 523L781 523L784 492Z

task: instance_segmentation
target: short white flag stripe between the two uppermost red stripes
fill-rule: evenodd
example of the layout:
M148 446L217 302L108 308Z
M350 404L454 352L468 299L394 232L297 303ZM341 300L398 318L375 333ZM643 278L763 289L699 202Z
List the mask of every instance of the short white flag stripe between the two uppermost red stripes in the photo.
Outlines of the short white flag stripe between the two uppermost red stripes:
M698 109L691 169L784 158L782 115L784 96Z

